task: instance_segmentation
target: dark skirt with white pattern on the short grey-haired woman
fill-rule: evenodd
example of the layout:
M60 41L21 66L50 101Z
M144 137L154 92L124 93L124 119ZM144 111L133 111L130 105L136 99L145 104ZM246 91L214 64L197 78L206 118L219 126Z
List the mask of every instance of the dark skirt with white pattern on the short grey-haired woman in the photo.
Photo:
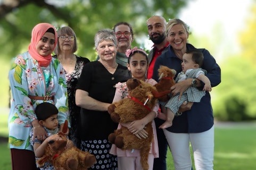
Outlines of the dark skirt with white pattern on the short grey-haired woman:
M96 164L88 168L88 170L118 170L117 156L109 153L111 146L112 144L108 139L81 141L81 150L89 151L97 160Z

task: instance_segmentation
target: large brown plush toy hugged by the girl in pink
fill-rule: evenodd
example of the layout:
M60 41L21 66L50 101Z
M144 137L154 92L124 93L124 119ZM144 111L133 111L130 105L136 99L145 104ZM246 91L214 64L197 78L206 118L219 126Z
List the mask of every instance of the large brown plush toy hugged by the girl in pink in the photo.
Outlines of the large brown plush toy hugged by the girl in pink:
M108 112L111 119L118 123L127 123L144 118L151 112L158 97L169 92L158 93L156 88L136 78L126 82L129 97L111 104ZM153 140L152 122L146 124L145 130L148 133L146 139L138 139L126 127L121 127L109 135L109 141L121 149L139 149L141 164L144 170L148 169L148 153Z

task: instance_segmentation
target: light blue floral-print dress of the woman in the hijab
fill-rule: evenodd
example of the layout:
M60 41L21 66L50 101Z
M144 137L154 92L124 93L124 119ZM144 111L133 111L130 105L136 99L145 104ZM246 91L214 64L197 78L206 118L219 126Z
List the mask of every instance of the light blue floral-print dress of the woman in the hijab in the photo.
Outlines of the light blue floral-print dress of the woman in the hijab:
M37 119L34 110L39 103L53 103L59 110L60 124L68 119L68 94L64 69L55 59L52 59L48 67L42 68L29 52L24 52L14 58L13 66L9 71L9 80L13 98L8 120L10 148L33 151L29 142L29 132L32 127L31 122ZM30 100L29 95L54 96L54 99Z

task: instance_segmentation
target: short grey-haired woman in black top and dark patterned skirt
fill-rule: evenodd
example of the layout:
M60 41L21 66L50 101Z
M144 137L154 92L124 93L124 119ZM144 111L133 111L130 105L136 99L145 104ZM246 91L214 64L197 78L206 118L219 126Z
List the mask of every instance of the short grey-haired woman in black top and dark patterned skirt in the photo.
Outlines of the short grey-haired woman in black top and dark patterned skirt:
M95 48L100 59L86 64L77 84L76 104L81 109L81 150L93 154L97 163L92 169L117 170L117 157L109 153L108 136L118 127L108 113L115 95L115 84L130 78L127 67L118 64L117 39L113 30L96 33Z

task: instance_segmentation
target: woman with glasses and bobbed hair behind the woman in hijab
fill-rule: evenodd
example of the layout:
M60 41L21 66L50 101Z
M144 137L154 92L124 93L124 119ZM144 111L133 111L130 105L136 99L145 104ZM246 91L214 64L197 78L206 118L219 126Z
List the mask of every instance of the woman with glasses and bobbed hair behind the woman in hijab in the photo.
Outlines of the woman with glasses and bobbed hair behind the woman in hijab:
M68 89L68 104L69 104L69 121L70 131L69 139L79 147L80 143L77 139L77 117L80 112L80 108L75 102L75 87L78 79L81 75L82 68L89 59L80 57L74 54L77 51L77 38L75 32L69 26L63 26L57 31L58 41L57 46L54 50L55 54L53 57L59 59L65 70L65 78Z

